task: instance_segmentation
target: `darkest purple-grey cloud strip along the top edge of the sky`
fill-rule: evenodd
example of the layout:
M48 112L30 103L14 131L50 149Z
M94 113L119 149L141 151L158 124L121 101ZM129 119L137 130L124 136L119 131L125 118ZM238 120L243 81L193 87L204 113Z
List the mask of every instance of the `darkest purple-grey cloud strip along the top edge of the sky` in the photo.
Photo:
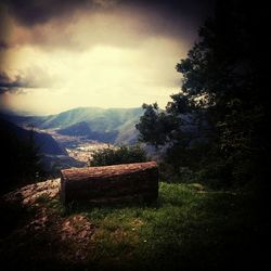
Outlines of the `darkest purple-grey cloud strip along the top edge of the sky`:
M169 21L184 16L193 23L209 13L215 0L4 0L9 12L23 25L43 24L77 10L140 8L158 12ZM191 23L190 22L190 23ZM177 21L178 23L178 21Z

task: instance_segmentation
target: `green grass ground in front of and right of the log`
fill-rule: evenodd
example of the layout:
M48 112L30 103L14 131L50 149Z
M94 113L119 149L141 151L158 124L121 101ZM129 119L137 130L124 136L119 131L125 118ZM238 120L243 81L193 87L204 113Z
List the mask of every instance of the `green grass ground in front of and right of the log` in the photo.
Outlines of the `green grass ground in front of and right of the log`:
M59 270L243 270L257 267L263 257L257 254L262 224L250 195L244 193L160 182L159 198L151 206L64 208L59 198L44 196L38 202L51 216L49 225L1 241L1 245L21 244L9 245L5 251L20 270L52 266ZM72 220L78 217L83 219ZM65 221L74 221L76 234L62 241L57 234ZM79 240L86 221L91 230ZM83 259L74 257L78 251Z

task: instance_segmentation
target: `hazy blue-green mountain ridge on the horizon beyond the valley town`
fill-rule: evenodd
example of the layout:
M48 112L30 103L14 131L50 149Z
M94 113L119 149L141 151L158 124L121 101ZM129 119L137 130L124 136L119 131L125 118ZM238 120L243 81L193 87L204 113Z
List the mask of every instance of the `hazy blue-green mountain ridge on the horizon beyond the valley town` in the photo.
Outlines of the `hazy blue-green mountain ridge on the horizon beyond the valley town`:
M129 144L137 142L138 131L134 125L141 115L141 107L77 107L50 116L9 115L8 119L18 126L33 125L39 129L55 129L61 134L85 136L100 142Z

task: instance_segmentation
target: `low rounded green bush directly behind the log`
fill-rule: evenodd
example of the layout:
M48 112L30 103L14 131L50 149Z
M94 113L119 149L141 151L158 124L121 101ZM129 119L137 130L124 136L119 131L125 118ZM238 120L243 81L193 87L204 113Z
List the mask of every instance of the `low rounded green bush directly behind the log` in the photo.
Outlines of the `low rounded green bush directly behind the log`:
M146 162L146 153L140 146L106 147L93 153L90 166L109 166Z

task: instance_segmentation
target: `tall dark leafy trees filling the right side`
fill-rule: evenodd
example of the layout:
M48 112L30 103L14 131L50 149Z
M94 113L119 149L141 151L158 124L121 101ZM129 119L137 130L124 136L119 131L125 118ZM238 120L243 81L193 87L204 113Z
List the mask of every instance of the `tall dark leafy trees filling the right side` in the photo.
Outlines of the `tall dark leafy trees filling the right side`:
M182 91L171 95L166 112L143 105L140 140L167 146L166 162L176 173L190 167L237 185L264 175L267 69L258 56L259 21L250 8L244 1L218 3L199 40L176 66Z

